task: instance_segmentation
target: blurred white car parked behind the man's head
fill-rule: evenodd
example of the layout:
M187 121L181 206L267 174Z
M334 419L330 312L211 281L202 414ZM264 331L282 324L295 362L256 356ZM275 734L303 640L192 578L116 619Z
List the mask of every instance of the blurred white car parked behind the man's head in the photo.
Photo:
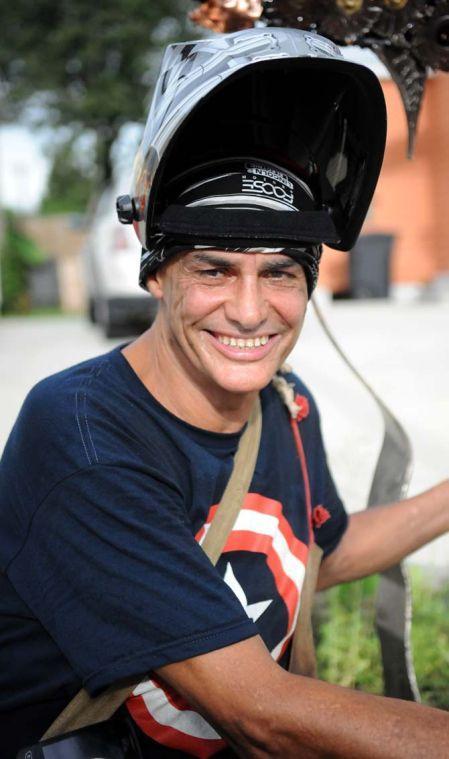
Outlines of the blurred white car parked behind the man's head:
M117 219L119 194L111 187L101 196L84 250L89 318L107 337L143 331L157 310L138 285L141 246L132 226Z

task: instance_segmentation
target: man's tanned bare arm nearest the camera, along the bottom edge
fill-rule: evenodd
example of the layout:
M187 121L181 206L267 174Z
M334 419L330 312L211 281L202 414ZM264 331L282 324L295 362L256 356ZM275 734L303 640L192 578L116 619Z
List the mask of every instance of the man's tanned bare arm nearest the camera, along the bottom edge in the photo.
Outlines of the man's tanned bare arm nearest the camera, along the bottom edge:
M158 674L239 756L445 759L449 714L285 672L259 637Z

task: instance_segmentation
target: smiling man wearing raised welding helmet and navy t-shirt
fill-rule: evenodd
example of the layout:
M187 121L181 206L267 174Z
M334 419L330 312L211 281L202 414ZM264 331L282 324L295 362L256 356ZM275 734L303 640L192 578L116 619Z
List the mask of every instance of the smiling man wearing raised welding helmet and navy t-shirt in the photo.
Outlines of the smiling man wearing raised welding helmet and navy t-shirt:
M383 148L371 134L373 102L383 114L373 75L307 37L250 31L167 53L133 197L118 204L143 243L155 323L39 383L0 470L5 759L37 741L82 686L95 697L124 678L138 683L123 713L144 759L448 755L447 714L286 671L313 543L324 588L449 528L447 482L348 518L312 395L284 371L291 419L276 389L321 243L357 234ZM318 123L305 94L298 107L286 100L298 72L306 90L319 76ZM201 98L187 113L185 91L193 81L204 95L207 76L218 88L209 120ZM251 139L229 123L220 131L248 103ZM214 567L201 544L257 398L254 474Z

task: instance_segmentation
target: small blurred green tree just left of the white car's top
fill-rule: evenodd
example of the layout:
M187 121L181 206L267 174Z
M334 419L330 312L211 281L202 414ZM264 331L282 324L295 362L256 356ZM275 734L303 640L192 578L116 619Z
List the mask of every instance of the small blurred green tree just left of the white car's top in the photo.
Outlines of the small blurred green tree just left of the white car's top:
M81 165L78 144L70 140L58 146L41 213L84 213L95 188L95 170Z

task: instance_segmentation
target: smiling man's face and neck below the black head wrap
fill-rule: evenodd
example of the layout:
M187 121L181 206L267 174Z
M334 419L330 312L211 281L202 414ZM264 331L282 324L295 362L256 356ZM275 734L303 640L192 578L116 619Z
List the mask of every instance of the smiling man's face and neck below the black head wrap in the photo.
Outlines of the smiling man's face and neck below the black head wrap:
M308 301L301 264L271 250L191 251L148 288L158 318L124 355L180 418L239 431L298 338Z

